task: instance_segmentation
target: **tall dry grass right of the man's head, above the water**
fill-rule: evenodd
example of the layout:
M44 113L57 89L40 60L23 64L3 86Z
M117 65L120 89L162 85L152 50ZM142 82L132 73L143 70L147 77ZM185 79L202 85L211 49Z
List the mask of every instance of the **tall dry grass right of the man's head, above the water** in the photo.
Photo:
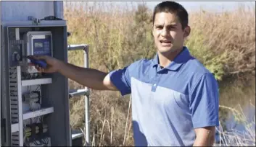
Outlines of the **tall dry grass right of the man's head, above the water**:
M255 72L255 6L241 5L234 12L194 12L190 25L186 45L218 80Z

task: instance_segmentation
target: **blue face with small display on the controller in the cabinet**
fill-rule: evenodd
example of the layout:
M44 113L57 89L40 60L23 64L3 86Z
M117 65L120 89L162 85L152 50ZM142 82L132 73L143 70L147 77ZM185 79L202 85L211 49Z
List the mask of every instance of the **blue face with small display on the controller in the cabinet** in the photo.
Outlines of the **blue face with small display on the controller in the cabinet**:
M33 39L33 55L51 55L51 38Z

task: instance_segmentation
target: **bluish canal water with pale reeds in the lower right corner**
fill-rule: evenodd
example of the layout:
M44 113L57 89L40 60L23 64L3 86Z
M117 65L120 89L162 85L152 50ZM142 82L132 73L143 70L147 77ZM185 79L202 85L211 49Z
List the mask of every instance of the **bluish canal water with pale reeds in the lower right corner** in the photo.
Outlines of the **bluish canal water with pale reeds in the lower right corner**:
M221 146L255 145L255 104L245 105L241 112L239 115L232 111L228 112L226 121L220 123L221 127L216 128L215 143Z

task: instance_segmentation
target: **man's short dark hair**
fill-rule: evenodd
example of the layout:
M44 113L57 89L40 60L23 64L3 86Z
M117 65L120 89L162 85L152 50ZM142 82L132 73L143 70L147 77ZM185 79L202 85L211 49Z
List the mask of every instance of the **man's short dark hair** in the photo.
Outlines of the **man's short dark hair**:
M181 4L174 1L163 1L160 4L157 4L157 6L154 7L153 24L155 15L160 12L176 14L176 17L178 17L178 20L181 22L182 29L188 26L189 14Z

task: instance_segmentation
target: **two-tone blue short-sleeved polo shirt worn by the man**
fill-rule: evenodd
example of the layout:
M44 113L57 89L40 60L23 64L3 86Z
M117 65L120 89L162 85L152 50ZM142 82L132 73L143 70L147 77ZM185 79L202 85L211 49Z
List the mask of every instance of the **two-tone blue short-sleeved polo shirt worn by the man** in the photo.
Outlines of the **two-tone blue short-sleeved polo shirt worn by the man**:
M186 47L165 68L156 55L110 72L110 79L132 96L135 146L193 146L194 128L219 125L218 83Z

